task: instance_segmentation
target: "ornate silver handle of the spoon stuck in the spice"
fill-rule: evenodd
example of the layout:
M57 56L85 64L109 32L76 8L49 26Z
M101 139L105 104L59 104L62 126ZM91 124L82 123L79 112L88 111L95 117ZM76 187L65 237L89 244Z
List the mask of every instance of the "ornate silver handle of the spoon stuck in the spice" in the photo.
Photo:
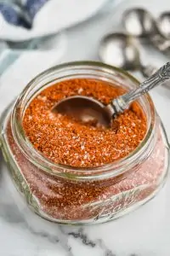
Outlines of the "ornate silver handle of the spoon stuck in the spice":
M106 107L108 109L108 113L110 115L122 113L128 108L131 102L136 100L139 96L147 93L157 85L162 84L167 79L170 79L170 62L167 62L167 64L158 69L156 73L150 76L149 79L146 79L142 84L140 84L136 90L131 90L113 100L111 104Z

